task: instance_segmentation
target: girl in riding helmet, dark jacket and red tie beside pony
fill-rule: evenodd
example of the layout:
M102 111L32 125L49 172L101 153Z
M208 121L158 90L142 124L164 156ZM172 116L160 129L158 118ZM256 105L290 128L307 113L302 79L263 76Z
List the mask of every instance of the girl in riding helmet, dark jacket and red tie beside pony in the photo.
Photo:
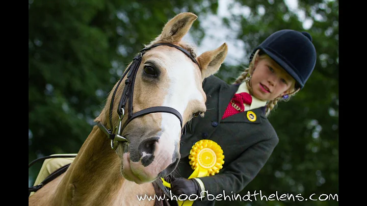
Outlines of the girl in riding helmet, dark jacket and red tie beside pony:
M229 201L242 191L279 141L267 116L279 101L289 100L304 87L316 59L310 34L281 30L253 50L249 67L233 84L214 75L206 78L207 110L181 137L181 159L170 181L172 194L205 196L191 203L214 205L217 195L222 194L218 196L222 201L228 195Z

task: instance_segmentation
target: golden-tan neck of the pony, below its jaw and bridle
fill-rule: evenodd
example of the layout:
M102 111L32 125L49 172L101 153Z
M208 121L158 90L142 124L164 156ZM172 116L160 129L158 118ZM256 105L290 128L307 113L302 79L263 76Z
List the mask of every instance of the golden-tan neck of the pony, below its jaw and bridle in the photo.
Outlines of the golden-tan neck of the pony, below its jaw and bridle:
M95 125L60 182L55 203L108 204L103 201L114 199L111 196L118 193L125 182L120 166L121 160L111 149L109 139Z

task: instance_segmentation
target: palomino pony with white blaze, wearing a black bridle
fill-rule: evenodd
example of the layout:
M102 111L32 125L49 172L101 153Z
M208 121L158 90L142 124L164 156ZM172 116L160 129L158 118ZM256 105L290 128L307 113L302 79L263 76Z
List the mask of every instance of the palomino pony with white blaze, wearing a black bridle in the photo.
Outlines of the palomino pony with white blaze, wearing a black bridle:
M181 41L196 19L176 15L134 58L67 171L30 196L29 205L154 204L137 195L154 197L152 182L176 168L182 128L206 111L202 81L227 55L224 43L196 57Z

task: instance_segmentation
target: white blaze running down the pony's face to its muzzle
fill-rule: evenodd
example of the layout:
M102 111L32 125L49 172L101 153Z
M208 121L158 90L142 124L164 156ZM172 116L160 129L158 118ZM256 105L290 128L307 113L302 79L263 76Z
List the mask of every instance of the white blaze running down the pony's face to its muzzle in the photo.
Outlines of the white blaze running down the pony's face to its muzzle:
M161 69L166 69L168 79L164 80L167 81L168 87L162 88L166 96L162 97L164 99L161 106L177 110L183 118L189 101L204 101L195 82L198 79L196 68L182 51L178 49L164 51L160 54L160 58L154 58L154 62L158 63ZM145 168L146 175L150 176L158 174L172 164L173 153L180 140L181 127L178 117L166 112L160 114L163 134L156 144L153 162ZM145 156L147 154L143 153L143 157Z

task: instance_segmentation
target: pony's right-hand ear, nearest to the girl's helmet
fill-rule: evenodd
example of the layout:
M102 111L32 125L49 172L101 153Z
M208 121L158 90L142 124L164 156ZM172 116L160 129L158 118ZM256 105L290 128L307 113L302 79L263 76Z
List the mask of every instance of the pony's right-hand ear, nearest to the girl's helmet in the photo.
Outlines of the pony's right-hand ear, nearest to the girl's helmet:
M224 43L215 50L205 51L197 60L201 66L201 76L204 80L208 76L217 73L228 53L227 44Z

